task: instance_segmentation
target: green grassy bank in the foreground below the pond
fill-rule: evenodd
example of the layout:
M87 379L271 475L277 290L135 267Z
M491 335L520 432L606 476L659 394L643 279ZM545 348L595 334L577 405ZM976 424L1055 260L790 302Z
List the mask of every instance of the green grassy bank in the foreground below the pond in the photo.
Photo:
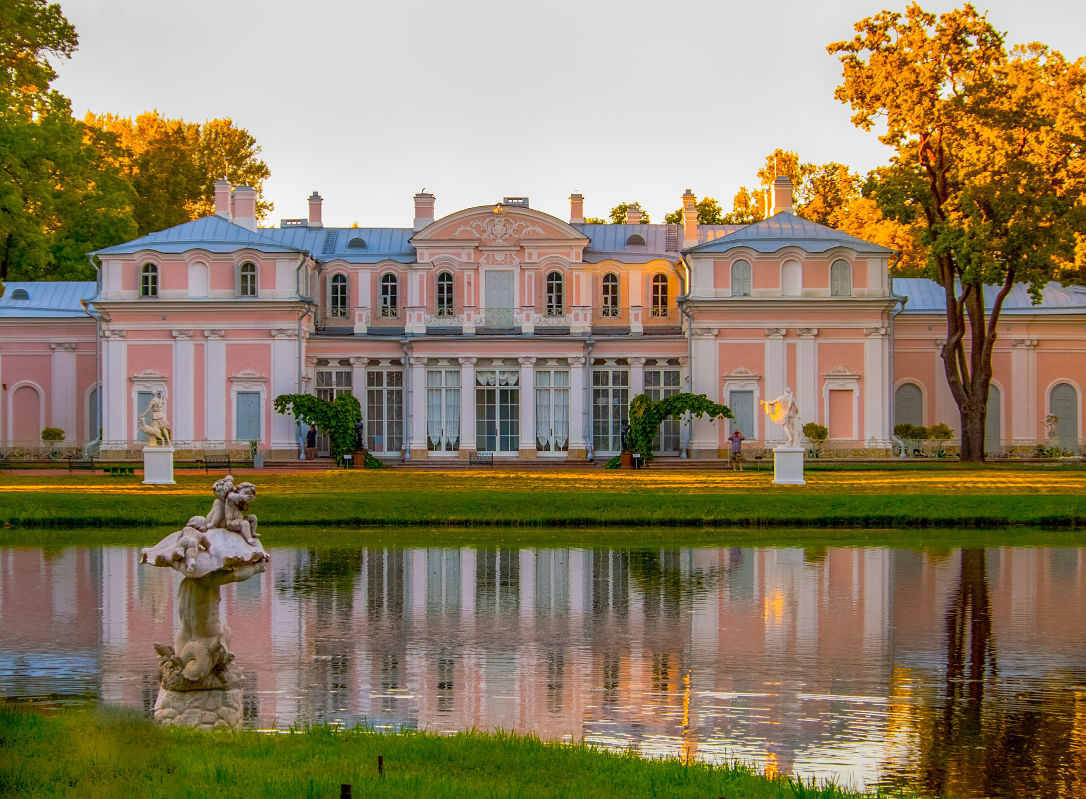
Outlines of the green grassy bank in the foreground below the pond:
M384 775L377 774L382 756ZM295 735L162 729L105 709L47 719L0 710L0 794L16 797L616 797L846 799L745 766L645 760L514 735ZM897 792L895 797L901 796Z

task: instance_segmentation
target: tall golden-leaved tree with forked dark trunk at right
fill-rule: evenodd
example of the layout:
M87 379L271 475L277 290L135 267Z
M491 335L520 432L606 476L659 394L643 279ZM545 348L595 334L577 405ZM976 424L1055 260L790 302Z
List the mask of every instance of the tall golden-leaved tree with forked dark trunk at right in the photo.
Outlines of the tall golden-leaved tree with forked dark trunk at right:
M881 212L923 232L925 274L946 296L944 372L961 414L961 458L984 460L992 351L1015 283L1035 299L1074 264L1086 233L1086 60L1044 45L1008 51L970 4L936 17L917 4L856 24L829 46L836 97L895 151ZM997 286L990 309L985 286Z

